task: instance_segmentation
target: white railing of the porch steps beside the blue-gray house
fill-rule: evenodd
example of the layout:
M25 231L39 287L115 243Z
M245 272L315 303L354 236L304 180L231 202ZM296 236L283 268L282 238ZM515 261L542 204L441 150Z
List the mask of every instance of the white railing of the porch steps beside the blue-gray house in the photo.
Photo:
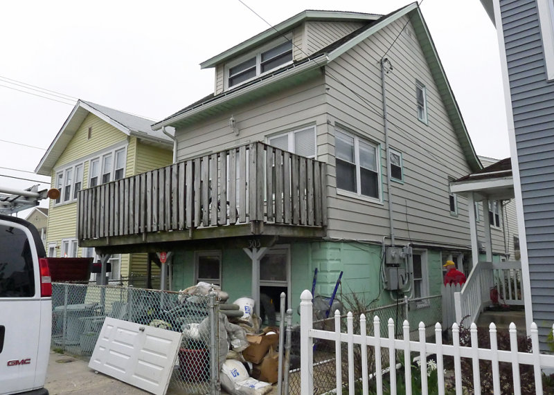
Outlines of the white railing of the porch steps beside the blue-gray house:
M467 277L462 290L454 293L456 322L465 317L476 322L479 313L492 303L491 291L496 288L499 303L523 305L521 262L479 262Z

